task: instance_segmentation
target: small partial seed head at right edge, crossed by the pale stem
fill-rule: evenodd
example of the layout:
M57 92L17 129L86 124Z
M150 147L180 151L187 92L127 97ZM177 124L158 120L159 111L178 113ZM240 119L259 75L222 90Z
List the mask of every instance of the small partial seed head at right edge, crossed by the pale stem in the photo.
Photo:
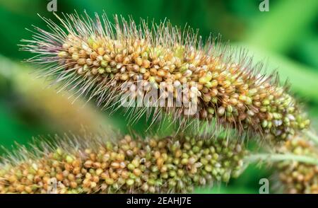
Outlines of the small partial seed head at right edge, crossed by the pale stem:
M295 137L285 142L283 153L313 156L318 160L318 149L310 141ZM285 192L293 194L318 194L318 166L300 162L282 161L277 164L279 180Z

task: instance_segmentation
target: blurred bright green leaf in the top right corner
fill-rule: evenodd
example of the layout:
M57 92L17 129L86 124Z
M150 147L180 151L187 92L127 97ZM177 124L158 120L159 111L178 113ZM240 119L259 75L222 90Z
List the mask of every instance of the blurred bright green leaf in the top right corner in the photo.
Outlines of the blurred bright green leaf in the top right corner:
M255 47L284 52L302 41L306 29L317 21L317 13L317 0L269 1L269 11L254 18L254 27L247 31L245 41Z

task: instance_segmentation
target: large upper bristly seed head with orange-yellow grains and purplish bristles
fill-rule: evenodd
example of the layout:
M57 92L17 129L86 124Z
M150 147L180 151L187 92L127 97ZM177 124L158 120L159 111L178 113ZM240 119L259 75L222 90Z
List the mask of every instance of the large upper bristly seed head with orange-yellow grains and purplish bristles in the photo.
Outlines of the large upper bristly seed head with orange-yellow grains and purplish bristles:
M77 15L59 19L62 27L45 19L51 32L36 28L34 40L25 40L23 50L36 53L31 60L44 65L45 75L57 75L62 88L78 88L76 95L95 98L99 105L114 104L129 91L144 98L155 88L163 92L160 98L172 95L175 105L139 112L164 110L183 121L216 119L277 140L309 125L293 97L271 76L261 76L249 57L236 56L214 40L203 44L191 29L182 33L162 23L150 30L143 21L136 25L117 18L112 25L105 16L95 21ZM143 88L123 89L126 83ZM197 105L194 115L185 113L189 106L177 106L179 88L189 106Z

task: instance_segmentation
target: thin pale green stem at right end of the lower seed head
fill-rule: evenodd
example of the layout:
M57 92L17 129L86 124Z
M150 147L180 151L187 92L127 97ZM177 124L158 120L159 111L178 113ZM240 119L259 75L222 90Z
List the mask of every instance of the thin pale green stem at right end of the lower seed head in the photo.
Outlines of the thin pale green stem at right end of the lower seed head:
M298 161L301 163L308 163L318 166L318 159L310 156L302 156L295 154L251 154L245 157L246 161L257 162L257 161Z

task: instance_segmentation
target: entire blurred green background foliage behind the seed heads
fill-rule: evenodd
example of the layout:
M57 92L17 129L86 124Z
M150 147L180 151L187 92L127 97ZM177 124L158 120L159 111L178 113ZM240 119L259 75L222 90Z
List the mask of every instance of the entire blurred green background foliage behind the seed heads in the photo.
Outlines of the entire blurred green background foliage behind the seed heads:
M21 39L30 38L25 28L45 23L37 16L53 18L43 0L0 0L0 137L10 148L13 141L26 144L32 136L77 132L81 125L98 129L111 124L122 132L134 129L144 134L146 118L126 126L124 112L112 115L77 100L73 105L68 93L47 90L47 83L33 79L31 66L20 61L32 56L18 50ZM246 47L266 70L276 70L282 81L288 79L295 96L305 104L313 127L318 127L318 1L269 0L269 12L259 11L258 0L57 0L57 13L74 10L89 14L105 11L108 16L131 16L136 21L148 18L173 25L199 28L203 38L222 34L223 41ZM162 129L166 129L163 127ZM196 192L257 193L259 179L268 178L266 168L250 167L238 180Z

